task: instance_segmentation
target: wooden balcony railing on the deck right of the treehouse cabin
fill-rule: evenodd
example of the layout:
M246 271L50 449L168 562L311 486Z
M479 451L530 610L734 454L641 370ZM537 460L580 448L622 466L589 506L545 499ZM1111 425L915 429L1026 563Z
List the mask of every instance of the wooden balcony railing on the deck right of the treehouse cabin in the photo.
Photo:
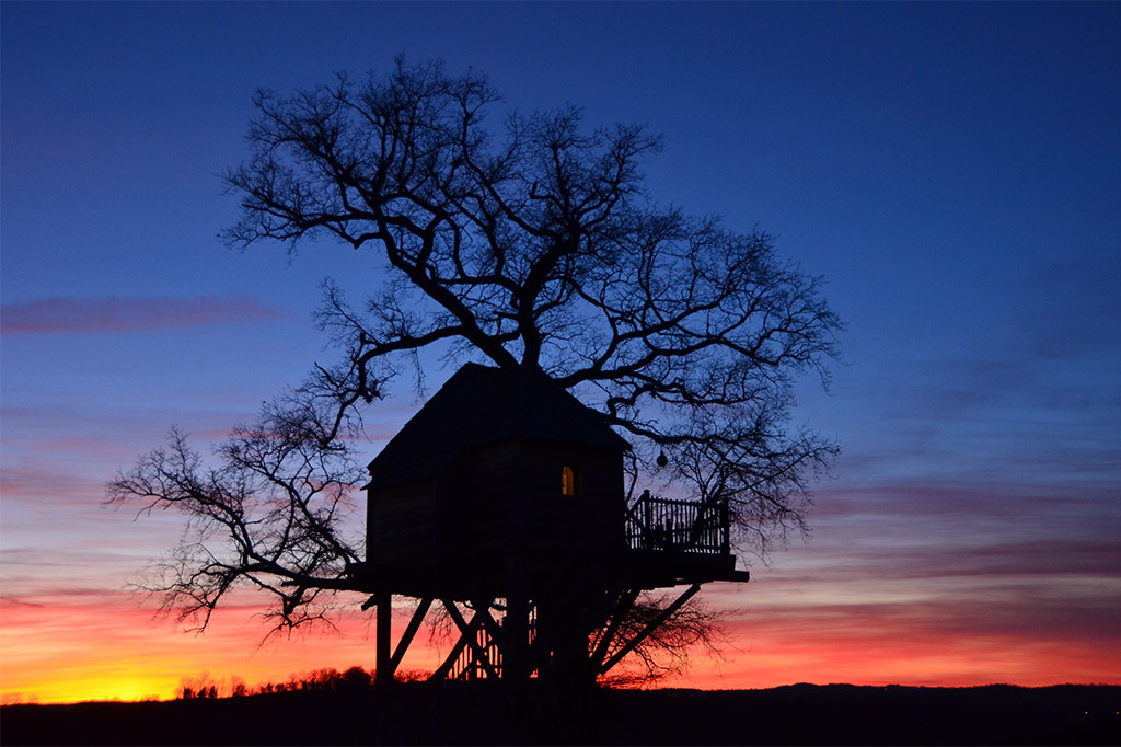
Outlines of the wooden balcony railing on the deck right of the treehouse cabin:
M643 494L627 513L631 550L728 555L731 540L728 501L708 504Z

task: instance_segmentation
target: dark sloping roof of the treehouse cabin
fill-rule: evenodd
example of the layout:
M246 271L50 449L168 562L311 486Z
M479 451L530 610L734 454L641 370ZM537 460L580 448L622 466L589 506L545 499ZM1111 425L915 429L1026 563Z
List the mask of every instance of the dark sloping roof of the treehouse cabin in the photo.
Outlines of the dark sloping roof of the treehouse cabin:
M513 439L630 449L540 370L466 363L370 462L370 486L423 480L469 449Z

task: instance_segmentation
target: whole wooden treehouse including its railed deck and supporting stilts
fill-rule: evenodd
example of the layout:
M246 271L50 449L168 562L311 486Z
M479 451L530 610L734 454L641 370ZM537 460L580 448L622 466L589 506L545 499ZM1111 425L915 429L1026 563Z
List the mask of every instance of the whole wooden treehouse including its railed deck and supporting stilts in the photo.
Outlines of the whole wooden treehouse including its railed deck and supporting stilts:
M592 681L735 570L726 502L627 506L629 444L540 371L461 368L370 462L367 562L388 682L433 605L458 638L433 679ZM642 590L687 589L647 629ZM419 605L391 649L393 596ZM462 606L462 609L461 609ZM464 614L463 610L466 610Z

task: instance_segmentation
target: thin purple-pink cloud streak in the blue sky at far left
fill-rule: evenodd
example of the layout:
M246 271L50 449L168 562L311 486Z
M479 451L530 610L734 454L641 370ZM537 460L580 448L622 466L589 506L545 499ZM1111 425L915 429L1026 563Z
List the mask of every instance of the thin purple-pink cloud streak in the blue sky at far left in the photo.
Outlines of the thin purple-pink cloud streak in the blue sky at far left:
M3 306L4 334L135 332L237 324L282 314L244 296L196 298L47 298Z

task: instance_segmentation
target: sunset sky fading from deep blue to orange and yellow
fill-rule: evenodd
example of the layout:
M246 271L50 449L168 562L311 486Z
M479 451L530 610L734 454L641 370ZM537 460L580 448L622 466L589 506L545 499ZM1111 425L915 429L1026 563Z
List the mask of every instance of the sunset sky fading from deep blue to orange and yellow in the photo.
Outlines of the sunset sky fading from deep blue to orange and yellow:
M650 192L773 233L845 320L793 412L842 446L813 534L705 589L722 656L666 684L1121 682L1121 4L6 1L0 36L6 702L373 667L356 610L265 644L248 594L154 619L126 584L180 526L102 502L173 424L205 449L332 360L319 284L376 258L225 248L219 175L256 89L401 53L661 132ZM371 458L417 407L371 413Z

